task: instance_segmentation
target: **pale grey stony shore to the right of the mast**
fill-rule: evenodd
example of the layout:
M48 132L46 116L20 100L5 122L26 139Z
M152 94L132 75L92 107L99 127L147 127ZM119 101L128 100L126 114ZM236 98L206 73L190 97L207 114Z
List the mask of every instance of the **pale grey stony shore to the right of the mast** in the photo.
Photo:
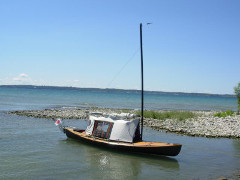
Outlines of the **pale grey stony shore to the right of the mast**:
M240 116L214 117L215 112L195 112L198 117L179 121L176 119L147 119L145 125L153 129L192 136L240 138Z

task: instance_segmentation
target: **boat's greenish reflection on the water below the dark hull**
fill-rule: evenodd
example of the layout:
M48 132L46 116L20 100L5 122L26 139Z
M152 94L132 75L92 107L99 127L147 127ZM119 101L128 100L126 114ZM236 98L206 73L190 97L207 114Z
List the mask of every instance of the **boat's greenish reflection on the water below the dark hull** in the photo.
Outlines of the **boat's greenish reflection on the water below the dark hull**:
M114 152L85 145L76 140L67 139L66 141L68 146L78 146L81 151L84 151L85 163L93 169L89 174L90 179L96 176L100 179L139 178L147 169L151 171L151 168L169 172L179 169L178 161L173 158Z

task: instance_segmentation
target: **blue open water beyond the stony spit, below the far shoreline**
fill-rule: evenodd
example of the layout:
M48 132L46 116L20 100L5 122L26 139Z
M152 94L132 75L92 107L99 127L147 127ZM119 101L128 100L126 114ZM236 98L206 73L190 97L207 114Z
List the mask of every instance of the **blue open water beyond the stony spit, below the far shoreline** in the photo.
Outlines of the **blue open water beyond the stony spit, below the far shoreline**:
M0 110L46 107L140 108L140 93L99 89L0 86ZM145 108L153 110L236 110L235 97L145 93Z

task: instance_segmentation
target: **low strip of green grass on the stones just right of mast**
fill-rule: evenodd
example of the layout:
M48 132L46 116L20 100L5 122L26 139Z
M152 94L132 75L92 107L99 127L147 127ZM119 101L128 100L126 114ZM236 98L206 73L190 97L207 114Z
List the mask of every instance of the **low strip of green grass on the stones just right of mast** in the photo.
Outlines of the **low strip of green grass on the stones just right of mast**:
M140 115L141 111L137 111L137 114ZM159 119L159 120L177 119L182 121L189 118L197 117L197 115L189 111L164 111L164 112L144 111L143 117Z

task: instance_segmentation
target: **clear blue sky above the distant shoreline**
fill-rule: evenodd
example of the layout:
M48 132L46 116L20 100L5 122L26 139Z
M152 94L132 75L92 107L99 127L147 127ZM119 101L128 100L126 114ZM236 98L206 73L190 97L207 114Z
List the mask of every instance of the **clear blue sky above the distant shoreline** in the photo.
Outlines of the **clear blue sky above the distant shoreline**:
M239 0L0 0L0 85L140 89L143 23L146 90L233 94L239 8Z

